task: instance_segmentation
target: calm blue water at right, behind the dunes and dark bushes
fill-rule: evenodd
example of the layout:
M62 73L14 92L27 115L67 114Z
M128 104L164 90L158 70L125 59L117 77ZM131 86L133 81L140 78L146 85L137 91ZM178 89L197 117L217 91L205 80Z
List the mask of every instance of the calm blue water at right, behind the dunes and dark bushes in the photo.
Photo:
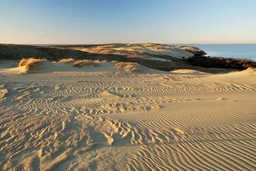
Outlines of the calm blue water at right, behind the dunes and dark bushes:
M256 44L186 44L205 51L206 56L256 60Z

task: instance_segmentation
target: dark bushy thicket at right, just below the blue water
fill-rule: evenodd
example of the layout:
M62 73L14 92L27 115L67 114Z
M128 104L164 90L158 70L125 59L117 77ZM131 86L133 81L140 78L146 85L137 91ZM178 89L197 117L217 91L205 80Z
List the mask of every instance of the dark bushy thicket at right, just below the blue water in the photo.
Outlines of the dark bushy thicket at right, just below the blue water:
M205 68L227 68L246 70L256 68L256 62L247 58L223 58L223 57L189 57L186 61L192 65Z

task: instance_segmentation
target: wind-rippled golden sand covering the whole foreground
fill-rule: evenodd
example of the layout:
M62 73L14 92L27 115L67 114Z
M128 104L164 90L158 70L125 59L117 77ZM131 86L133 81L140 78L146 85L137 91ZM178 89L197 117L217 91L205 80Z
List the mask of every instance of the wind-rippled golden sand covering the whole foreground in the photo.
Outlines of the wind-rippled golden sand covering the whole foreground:
M0 170L255 170L256 71L0 64Z

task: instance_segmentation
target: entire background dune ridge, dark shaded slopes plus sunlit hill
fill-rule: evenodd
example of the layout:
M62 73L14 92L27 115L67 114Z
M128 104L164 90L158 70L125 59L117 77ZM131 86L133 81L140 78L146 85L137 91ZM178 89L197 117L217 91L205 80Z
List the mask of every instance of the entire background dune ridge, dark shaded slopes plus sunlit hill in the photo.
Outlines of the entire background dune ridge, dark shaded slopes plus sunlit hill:
M204 51L196 47L175 47L166 44L97 44L57 47L0 44L0 60L21 60L34 57L35 59L45 58L48 61L59 61L74 58L76 61L106 60L139 63L145 67L163 71L177 69L191 69L207 73L234 71L234 69L197 67L183 59L183 57L204 54Z

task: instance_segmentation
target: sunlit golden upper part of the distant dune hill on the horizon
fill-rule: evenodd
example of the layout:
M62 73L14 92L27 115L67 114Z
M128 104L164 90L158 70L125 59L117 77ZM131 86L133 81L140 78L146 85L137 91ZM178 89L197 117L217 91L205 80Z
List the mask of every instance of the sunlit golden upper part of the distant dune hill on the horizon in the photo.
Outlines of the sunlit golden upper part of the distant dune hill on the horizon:
M104 44L91 46L69 47L74 50L90 52L93 54L117 54L127 55L128 58L146 58L150 60L161 60L160 57L169 56L173 58L188 58L196 53L206 54L204 51L196 47L180 47L167 44ZM154 55L159 55L159 58L154 58ZM157 56L158 57L158 56Z

